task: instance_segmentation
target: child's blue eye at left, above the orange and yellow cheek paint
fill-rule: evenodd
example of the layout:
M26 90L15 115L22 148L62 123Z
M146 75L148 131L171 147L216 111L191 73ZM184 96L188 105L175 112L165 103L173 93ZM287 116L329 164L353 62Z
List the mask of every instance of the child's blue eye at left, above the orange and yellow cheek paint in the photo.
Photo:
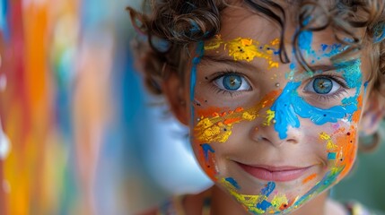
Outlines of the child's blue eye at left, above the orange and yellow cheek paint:
M214 80L215 85L221 90L241 91L250 90L249 82L240 74L227 73Z

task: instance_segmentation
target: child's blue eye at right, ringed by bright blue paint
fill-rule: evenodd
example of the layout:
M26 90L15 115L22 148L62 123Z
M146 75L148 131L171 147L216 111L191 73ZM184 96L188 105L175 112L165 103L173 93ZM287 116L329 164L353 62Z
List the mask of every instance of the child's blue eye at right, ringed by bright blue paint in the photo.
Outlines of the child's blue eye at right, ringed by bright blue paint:
M336 82L332 78L321 76L312 79L303 90L315 92L323 96L328 96L335 94L340 88L340 83Z

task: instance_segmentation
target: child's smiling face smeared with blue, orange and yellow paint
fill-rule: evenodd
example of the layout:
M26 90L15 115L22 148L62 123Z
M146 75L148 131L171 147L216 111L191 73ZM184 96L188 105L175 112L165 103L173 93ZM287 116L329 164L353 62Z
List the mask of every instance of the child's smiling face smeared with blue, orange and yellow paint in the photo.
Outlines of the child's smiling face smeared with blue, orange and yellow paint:
M279 60L280 29L246 9L223 12L220 36L190 60L190 133L197 159L216 185L255 213L293 211L349 172L366 101L368 60L333 64L342 47L331 30L304 32L307 73ZM188 86L187 86L188 88Z

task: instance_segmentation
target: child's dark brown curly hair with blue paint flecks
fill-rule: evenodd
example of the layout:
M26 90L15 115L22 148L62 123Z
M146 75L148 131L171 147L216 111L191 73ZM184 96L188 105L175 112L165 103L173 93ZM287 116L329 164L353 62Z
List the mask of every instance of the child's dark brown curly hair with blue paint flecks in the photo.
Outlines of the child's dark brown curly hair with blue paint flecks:
M143 63L142 72L147 87L155 94L162 94L161 83L173 71L183 76L186 64L186 47L197 41L211 39L221 30L221 12L232 6L226 0L144 0L149 13L138 13L127 7L132 22L147 40L136 40L136 56ZM268 17L281 28L280 60L289 63L284 48L284 29L287 15L284 8L271 0L243 0L254 12ZM356 56L362 47L370 50L373 88L385 91L385 13L383 0L286 0L291 6L297 7L295 20L299 30L293 39L293 47L298 47L298 37L304 30L319 31L331 27L338 42L348 48L332 60ZM326 4L325 4L326 3ZM318 14L311 17L314 12ZM292 14L290 14L292 15ZM322 20L322 22L319 22ZM358 28L364 28L365 34L357 36ZM192 30L193 29L193 30ZM160 46L159 44L162 44ZM299 48L295 48L299 50ZM311 71L300 51L295 53L302 67ZM165 66L174 69L165 70ZM383 85L383 84L382 84Z

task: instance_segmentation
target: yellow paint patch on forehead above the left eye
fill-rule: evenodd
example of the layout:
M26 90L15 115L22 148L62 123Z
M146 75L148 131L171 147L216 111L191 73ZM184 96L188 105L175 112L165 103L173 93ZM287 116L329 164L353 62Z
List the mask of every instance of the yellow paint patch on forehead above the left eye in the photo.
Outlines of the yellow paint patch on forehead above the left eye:
M268 68L278 67L278 62L273 60L274 50L277 50L279 39L274 39L268 45L261 46L258 41L247 38L237 38L230 41L223 41L217 35L213 40L205 45L205 50L216 50L224 45L224 50L228 51L235 61L252 61L254 58L264 58L267 60Z

